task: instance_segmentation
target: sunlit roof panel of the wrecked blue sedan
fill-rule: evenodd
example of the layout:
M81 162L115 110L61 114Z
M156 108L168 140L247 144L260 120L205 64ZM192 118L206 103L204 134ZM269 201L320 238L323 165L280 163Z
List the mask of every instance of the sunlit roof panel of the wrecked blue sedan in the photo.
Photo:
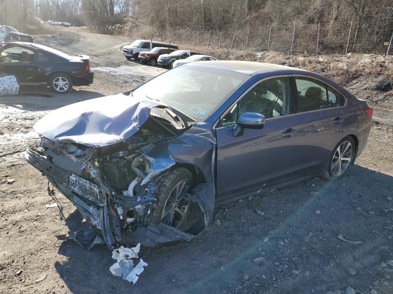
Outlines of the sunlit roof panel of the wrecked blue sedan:
M264 62L240 61L240 60L215 60L204 62L193 62L192 66L205 66L217 69L224 69L226 71L233 71L235 73L247 74L249 76L260 73L261 71L271 71L277 69L291 70L292 67L285 65L269 64ZM293 69L295 70L295 69ZM299 69L296 69L297 71Z

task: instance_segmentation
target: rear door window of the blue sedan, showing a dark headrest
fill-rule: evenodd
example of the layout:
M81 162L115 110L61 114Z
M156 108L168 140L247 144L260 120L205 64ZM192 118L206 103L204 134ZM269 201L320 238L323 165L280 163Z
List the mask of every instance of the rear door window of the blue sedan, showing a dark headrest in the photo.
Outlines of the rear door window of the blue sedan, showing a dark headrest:
M326 109L326 85L312 78L296 77L296 90L298 92L298 112Z

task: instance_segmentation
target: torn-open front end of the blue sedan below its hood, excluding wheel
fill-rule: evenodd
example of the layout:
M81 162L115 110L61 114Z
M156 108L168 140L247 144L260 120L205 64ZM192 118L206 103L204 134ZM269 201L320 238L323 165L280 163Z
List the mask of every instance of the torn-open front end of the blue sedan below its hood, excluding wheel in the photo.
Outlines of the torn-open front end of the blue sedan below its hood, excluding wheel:
M198 150L203 154L198 160L207 162L209 166L202 168L212 172L212 136L200 136L201 142L209 142L208 145L204 144L205 147L198 146L195 138L193 142L187 142L190 137L185 136L184 132L192 125L183 123L169 109L151 110L132 136L117 143L86 146L79 142L67 142L72 141L69 139L59 142L44 136L39 146L27 150L28 162L39 169L92 224L93 230L90 228L73 234L73 239L79 238L75 241L87 250L97 243L96 237L101 234L109 249L120 245L134 246L136 243L155 246L191 240L201 234L208 224L215 195L212 177L195 181L192 187L189 183L191 180L184 182L189 183L190 187L185 187L182 199L198 203L203 212L202 218L185 231L171 225L172 222L165 224L160 221L165 207L160 203L162 195L158 182L162 183L163 177L178 168L182 161L189 164L187 159L176 158L176 153L183 154L184 148L188 149L187 152ZM72 126L70 129L74 128ZM62 131L64 134L66 131ZM190 157L189 160L195 159ZM195 165L195 169L198 166L201 166L200 163Z

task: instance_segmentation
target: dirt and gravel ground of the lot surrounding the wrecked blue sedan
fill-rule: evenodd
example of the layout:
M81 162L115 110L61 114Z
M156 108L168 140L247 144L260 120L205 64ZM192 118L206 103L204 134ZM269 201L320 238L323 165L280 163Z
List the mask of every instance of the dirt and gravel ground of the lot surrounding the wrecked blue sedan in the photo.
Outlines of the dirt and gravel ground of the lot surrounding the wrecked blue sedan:
M129 90L163 71L123 58L119 45L132 41L125 37L73 27L52 34L36 36L37 43L90 55L95 81L67 95L28 88L23 96L0 97L0 152L35 142L31 127L52 109ZM387 95L373 105L376 117L393 108ZM148 266L136 285L110 274L114 260L106 247L85 252L57 240L88 224L64 196L48 194L47 181L23 153L2 157L0 293L344 293L347 287L393 293L392 142L392 126L376 120L367 149L343 180L314 178L230 203L220 225L200 238L142 249ZM45 208L52 203L58 206Z

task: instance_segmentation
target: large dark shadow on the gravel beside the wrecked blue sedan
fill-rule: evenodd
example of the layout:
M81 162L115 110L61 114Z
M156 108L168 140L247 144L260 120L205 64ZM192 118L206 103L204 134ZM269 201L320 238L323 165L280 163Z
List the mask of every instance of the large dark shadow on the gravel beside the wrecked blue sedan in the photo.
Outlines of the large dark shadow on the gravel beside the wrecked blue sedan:
M136 285L112 276L114 260L105 246L85 252L64 241L59 254L68 262L55 268L72 293L325 293L348 286L364 292L383 278L381 261L392 259L393 231L384 227L393 212L382 212L393 206L386 199L392 190L393 177L354 165L337 182L314 178L229 203L221 225L200 238L142 248L148 266ZM66 222L70 230L86 225L78 212ZM362 243L344 242L338 234ZM288 243L279 245L281 240Z

